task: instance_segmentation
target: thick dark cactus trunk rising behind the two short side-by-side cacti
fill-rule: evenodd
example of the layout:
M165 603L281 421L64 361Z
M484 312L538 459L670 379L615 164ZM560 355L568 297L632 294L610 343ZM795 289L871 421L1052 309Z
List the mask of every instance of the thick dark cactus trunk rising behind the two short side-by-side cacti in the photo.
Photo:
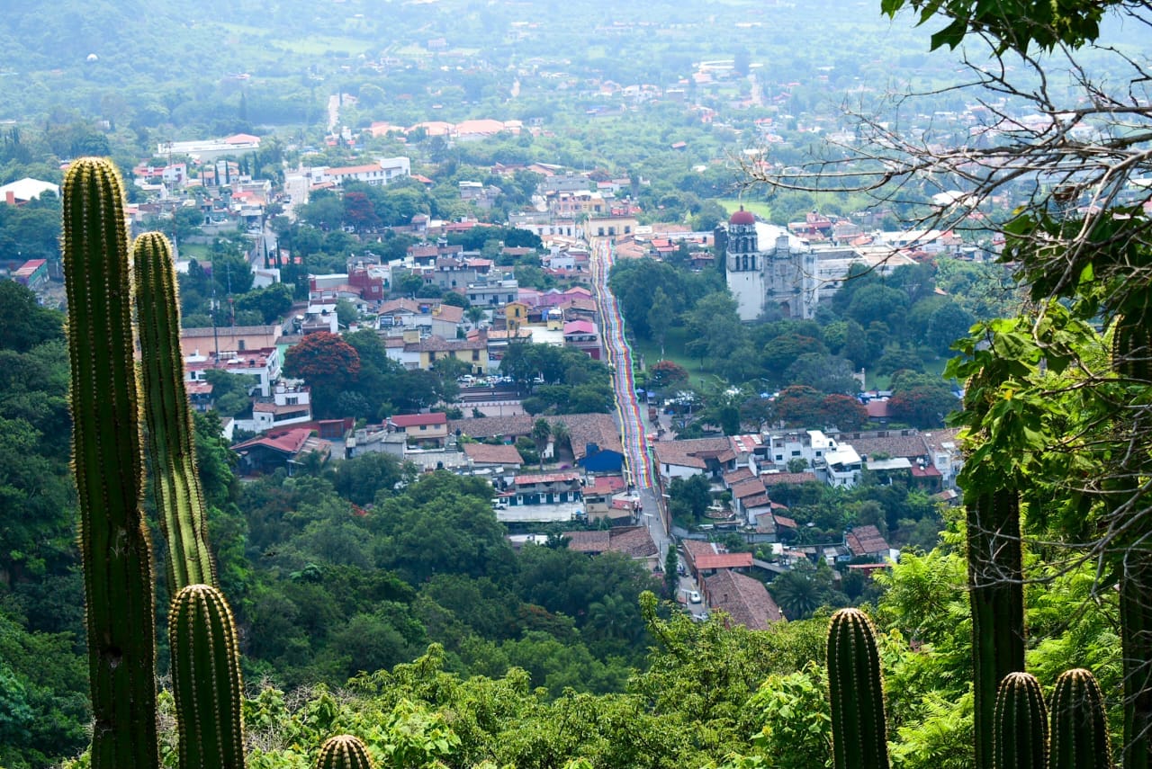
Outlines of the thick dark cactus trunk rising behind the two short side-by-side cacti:
M987 767L996 688L1005 676L1024 669L1024 578L1015 489L984 493L968 504L968 581L976 766Z

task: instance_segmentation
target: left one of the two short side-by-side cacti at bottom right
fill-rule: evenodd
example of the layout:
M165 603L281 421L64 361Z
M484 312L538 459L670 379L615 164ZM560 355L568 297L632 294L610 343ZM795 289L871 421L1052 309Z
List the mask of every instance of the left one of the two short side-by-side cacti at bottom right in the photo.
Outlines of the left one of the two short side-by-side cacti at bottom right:
M992 738L994 769L1045 769L1048 716L1040 683L1026 672L1011 672L1000 682Z

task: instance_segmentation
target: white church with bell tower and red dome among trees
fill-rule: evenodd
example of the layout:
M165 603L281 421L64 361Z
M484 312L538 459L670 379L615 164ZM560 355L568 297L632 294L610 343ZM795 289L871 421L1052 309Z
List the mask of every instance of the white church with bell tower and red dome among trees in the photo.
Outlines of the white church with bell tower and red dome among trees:
M811 318L816 314L816 254L782 227L756 221L741 208L728 220L726 274L743 321L764 314Z

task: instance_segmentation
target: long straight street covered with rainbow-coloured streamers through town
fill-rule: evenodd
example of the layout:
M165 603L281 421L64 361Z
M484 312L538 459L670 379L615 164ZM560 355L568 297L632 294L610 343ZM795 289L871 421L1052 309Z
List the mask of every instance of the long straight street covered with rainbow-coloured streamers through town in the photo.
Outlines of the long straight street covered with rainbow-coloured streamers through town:
M667 554L672 538L660 516L655 485L654 465L649 451L646 425L636 398L636 381L632 378L631 350L624 338L624 321L616 304L616 297L608 290L608 272L614 253L612 244L598 241L592 248L592 289L600 311L600 333L608 363L613 366L612 386L616 395L616 420L621 428L627 463L626 478L636 488L643 505L641 516L647 526L661 556Z

